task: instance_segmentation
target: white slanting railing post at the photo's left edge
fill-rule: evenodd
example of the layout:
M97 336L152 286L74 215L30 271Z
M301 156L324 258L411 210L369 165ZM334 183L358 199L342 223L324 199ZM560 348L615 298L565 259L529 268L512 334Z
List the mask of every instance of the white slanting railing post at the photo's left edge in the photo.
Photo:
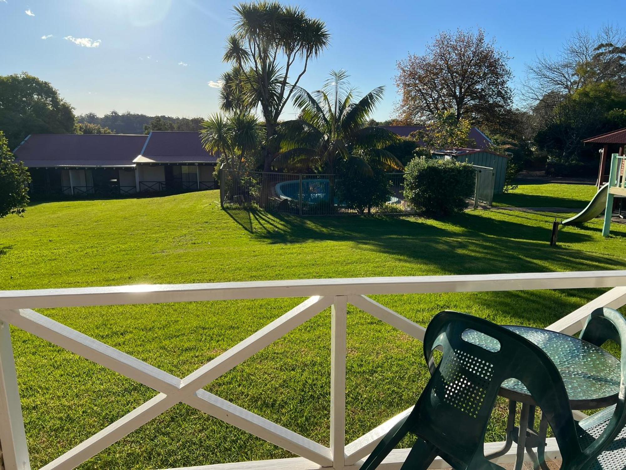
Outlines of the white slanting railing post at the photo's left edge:
M30 470L9 324L0 321L0 446L5 470Z

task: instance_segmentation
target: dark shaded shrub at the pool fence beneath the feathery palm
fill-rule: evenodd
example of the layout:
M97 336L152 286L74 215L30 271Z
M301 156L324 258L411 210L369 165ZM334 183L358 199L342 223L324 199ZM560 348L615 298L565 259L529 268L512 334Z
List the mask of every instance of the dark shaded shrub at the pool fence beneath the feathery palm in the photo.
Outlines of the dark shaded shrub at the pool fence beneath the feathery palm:
M389 175L379 169L373 174L346 172L335 185L335 194L340 204L356 209L359 214L371 213L373 207L381 207L393 195Z

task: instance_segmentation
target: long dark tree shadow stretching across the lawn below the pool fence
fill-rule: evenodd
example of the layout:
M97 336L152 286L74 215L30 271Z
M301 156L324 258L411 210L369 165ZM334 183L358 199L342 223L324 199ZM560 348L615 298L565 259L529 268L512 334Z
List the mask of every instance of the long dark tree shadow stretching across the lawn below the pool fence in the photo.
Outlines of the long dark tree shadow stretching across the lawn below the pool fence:
M499 217L466 212L428 222L406 217L298 217L256 209L229 209L228 215L267 243L345 241L362 256L387 253L416 263L416 274L423 273L424 265L441 273L488 274L620 269L626 264L598 253L550 246L551 224L538 225L536 217L523 212ZM560 236L571 244L592 239L582 231Z

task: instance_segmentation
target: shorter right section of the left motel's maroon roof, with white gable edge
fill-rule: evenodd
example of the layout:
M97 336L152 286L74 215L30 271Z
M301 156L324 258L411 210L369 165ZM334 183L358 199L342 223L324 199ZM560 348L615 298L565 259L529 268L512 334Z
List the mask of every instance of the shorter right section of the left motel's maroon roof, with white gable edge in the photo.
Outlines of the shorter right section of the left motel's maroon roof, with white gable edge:
M150 132L137 163L213 163L217 157L204 149L198 132Z

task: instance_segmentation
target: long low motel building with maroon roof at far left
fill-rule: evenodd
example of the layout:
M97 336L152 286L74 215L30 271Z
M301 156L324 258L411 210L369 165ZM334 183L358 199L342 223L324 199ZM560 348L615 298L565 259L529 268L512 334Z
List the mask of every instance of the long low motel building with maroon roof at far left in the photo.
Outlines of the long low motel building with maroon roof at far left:
M34 199L216 189L198 132L31 134L14 150Z

